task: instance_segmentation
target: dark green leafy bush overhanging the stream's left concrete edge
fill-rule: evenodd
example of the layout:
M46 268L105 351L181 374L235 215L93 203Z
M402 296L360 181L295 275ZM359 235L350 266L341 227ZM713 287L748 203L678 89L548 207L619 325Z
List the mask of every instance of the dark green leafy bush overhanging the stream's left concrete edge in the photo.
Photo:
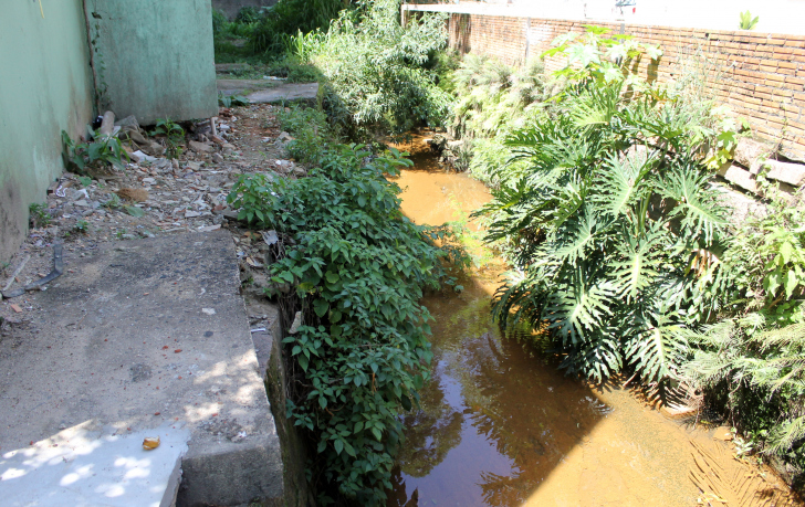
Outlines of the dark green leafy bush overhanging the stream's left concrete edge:
M400 189L386 175L410 162L397 151L325 145L323 117L301 115L286 114L283 127L317 135L317 145L291 146L315 161L310 176L243 177L229 201L244 220L290 237L271 274L294 287L302 315L284 340L288 416L314 442L312 472L323 474L314 482L379 505L402 439L398 415L417 404L428 376L430 316L419 299L425 287L450 282L447 254L435 246L445 232L400 212Z

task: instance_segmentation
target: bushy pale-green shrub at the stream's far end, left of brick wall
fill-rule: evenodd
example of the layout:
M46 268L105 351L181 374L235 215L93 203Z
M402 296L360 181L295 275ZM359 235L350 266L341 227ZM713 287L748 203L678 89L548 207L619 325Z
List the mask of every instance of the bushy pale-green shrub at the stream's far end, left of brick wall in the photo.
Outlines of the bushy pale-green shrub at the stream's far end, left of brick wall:
M451 99L425 66L446 41L442 17L425 15L402 27L398 0L375 0L343 11L326 34L299 35L291 47L326 77L331 116L353 138L368 138L442 125Z

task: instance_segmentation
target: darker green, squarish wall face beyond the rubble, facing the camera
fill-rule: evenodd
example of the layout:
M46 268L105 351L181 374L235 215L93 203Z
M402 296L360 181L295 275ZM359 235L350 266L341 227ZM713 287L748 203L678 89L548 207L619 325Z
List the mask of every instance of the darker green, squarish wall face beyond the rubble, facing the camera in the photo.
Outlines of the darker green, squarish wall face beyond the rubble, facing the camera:
M210 0L86 0L86 9L103 109L142 125L218 114Z

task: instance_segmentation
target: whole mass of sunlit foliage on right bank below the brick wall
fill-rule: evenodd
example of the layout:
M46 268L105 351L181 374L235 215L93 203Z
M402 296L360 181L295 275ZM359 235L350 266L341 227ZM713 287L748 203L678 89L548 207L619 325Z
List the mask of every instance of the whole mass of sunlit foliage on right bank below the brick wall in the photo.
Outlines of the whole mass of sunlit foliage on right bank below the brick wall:
M600 35L557 40L548 55L568 65L532 73L531 103L513 105L518 71L498 62L456 73L453 126L495 188L489 239L515 266L494 313L545 326L571 372L703 393L802 477L805 216L765 184L767 212L729 224L708 169L731 156L734 123L696 75L662 88L628 71L659 49Z

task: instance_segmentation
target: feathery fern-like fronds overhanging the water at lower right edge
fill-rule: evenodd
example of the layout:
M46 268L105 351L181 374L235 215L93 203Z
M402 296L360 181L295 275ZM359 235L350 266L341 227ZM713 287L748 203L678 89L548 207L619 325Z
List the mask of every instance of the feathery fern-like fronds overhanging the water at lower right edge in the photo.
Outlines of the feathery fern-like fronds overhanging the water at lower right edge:
M799 308L802 310L802 307ZM687 338L689 382L704 389L766 456L805 474L805 324L778 327L764 311L724 319Z

